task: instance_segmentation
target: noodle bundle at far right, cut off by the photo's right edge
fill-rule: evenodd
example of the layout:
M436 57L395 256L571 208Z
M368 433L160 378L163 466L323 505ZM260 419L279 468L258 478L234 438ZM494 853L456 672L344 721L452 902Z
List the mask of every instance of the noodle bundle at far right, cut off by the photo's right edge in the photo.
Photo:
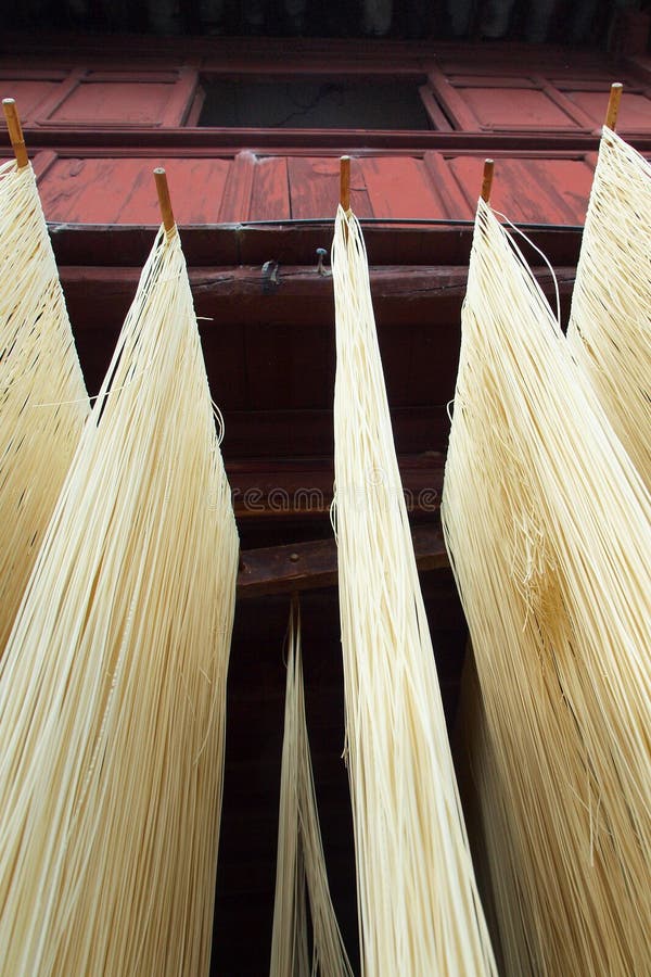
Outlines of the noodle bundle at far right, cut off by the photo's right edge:
M567 337L651 487L651 165L607 128Z

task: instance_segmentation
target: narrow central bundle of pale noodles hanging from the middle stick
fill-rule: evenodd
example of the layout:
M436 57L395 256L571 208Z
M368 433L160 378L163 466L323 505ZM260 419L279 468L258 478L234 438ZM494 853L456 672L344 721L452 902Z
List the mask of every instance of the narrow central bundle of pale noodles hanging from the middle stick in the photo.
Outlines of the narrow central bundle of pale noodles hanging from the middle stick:
M356 218L340 208L334 462L362 972L495 973L450 757Z

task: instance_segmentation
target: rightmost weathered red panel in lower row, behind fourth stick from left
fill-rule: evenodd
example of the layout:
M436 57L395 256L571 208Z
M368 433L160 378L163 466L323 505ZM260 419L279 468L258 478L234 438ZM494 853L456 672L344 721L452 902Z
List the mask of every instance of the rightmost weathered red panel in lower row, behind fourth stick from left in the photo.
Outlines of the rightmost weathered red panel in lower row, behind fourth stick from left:
M458 156L448 165L474 208L483 160ZM591 186L585 160L498 158L490 203L513 221L583 224Z

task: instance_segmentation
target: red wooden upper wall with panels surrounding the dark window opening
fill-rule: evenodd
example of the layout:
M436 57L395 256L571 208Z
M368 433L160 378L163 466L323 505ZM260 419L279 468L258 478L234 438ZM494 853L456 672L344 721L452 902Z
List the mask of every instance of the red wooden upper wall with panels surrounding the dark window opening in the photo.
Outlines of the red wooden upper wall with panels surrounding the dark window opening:
M216 40L210 53L181 48L176 58L151 43L77 45L5 58L0 92L18 103L48 218L155 224L151 169L161 164L181 224L328 218L334 157L347 151L359 216L470 218L481 160L493 155L497 208L520 221L578 224L615 78L625 84L618 130L651 151L651 65L642 62L531 47L393 45L383 55L370 46L354 56L342 42L279 45ZM430 129L197 126L205 86L219 78L356 78L372 92L396 74L420 93Z

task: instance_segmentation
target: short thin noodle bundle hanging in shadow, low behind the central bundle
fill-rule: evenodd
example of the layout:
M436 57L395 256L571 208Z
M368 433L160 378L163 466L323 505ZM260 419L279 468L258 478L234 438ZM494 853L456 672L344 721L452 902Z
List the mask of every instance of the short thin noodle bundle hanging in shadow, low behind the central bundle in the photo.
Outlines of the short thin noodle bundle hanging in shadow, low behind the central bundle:
M311 954L306 905L311 917ZM311 959L310 959L311 957ZM309 754L301 612L292 605L280 781L271 977L353 977L330 898Z

